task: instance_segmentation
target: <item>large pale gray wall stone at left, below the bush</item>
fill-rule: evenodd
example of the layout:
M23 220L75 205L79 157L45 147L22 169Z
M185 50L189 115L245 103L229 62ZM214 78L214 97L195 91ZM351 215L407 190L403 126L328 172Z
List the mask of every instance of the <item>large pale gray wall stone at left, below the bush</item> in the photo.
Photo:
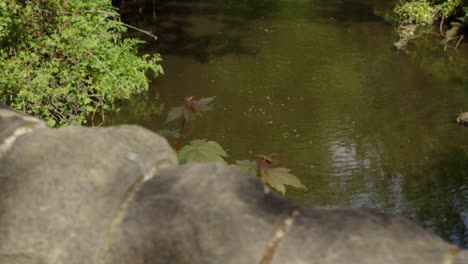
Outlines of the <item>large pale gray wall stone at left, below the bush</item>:
M167 142L141 127L50 129L0 111L1 264L97 263L126 198L177 164Z

